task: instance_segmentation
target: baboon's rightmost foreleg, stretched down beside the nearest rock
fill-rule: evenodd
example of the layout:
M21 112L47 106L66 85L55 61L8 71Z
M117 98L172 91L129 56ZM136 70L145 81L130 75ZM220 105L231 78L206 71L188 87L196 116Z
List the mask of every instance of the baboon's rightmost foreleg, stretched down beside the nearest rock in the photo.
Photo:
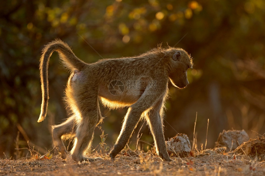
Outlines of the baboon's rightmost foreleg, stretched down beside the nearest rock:
M164 161L172 161L169 157L169 154L166 150L165 137L163 131L163 119L161 118L160 113L162 113L161 108L163 100L159 101L146 115L146 121L149 124L150 130L152 132L157 154Z

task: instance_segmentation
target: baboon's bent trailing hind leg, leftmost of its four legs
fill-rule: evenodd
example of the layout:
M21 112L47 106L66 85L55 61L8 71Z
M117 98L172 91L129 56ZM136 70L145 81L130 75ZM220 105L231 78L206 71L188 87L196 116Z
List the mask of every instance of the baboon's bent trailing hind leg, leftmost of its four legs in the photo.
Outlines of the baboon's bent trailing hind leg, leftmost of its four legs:
M63 159L66 158L67 150L63 144L61 137L62 135L65 134L75 135L74 123L75 123L75 115L72 115L65 122L59 125L54 125L52 126L51 129L53 143L55 147L58 148L58 151L61 153L61 157Z

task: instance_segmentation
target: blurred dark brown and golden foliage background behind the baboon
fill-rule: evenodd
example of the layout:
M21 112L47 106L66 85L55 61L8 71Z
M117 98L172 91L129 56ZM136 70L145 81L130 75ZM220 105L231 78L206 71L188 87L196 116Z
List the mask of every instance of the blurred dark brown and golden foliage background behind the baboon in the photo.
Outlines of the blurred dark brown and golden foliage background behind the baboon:
M185 89L169 84L165 137L185 133L193 139L197 113L198 148L213 148L222 130L244 129L251 138L265 133L265 2L263 0L9 0L0 2L0 156L18 150L51 149L51 125L69 110L63 90L69 73L54 53L49 63L49 106L37 123L41 105L39 58L43 45L60 38L75 55L92 63L134 56L162 46L185 49L194 58ZM88 43L99 53L97 54ZM100 124L112 147L126 109L109 111ZM142 126L143 125L143 126ZM140 127L142 126L141 130ZM140 132L139 132L140 131ZM150 149L153 138L139 123L129 145ZM93 148L101 142L96 128ZM29 144L27 144L29 141ZM27 150L19 150L20 157Z

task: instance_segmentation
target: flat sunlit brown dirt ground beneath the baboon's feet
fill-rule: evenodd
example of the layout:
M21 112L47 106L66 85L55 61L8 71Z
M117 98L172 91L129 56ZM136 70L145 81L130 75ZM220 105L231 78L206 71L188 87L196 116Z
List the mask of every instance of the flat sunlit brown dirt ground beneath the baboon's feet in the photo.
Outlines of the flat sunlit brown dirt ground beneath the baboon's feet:
M108 156L96 162L77 163L59 155L51 159L35 157L0 160L0 175L265 175L263 159L206 149L193 157L171 157L163 162L156 154L129 152L117 155L114 162Z

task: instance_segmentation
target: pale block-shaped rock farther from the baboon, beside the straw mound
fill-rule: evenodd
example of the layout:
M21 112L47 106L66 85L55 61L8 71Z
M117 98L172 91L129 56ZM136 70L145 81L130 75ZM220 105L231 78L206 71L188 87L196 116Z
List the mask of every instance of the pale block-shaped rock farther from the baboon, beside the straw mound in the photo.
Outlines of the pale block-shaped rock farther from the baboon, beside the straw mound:
M226 152L235 150L243 142L249 140L244 130L228 130L219 134L215 147L226 147Z

